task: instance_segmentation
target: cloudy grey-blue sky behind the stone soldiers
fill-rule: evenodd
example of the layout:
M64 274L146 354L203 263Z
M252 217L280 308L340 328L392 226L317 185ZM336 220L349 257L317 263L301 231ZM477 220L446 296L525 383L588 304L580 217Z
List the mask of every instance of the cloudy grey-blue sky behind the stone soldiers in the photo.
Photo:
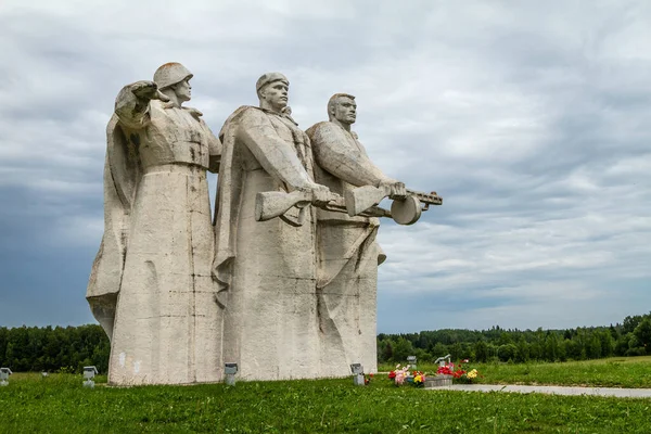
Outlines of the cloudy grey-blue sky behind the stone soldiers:
M303 128L353 93L378 166L444 197L381 228L380 332L647 314L650 46L646 1L3 0L0 326L93 322L105 125L169 61L214 130L265 72Z

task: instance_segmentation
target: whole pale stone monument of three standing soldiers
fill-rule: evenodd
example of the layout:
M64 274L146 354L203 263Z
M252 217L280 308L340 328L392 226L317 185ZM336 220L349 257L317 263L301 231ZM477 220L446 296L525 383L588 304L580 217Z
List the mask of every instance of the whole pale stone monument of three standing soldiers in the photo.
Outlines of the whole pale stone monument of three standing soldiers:
M216 382L225 365L242 380L375 371L376 217L410 225L441 197L373 165L349 94L306 133L288 78L265 74L259 106L235 110L218 139L182 105L191 78L167 63L125 86L106 129L87 299L111 339L108 382ZM206 170L219 174L213 222Z

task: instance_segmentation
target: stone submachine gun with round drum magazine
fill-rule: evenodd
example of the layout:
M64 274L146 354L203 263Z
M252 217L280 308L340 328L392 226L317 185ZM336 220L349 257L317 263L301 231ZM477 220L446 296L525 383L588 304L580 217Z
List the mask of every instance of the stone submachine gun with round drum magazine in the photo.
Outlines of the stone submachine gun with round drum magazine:
M349 216L357 216L373 205L378 205L390 195L390 188L362 186L345 193L346 210ZM424 204L421 207L421 204ZM407 190L405 200L394 200L391 206L393 219L399 225L412 225L420 218L421 212L430 209L430 205L442 205L443 199L436 194Z

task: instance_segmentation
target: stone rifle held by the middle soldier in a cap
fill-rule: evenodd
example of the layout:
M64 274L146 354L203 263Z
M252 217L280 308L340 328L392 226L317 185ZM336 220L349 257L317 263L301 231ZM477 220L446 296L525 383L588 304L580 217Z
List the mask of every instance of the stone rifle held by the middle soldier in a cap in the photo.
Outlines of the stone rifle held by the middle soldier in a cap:
M255 197L255 220L267 221L275 217L281 217L292 206L304 208L311 204L311 193L308 191L294 190L291 193L284 191L264 191L256 194ZM335 213L347 213L343 197L332 193L332 199L327 204L320 205L322 209L332 210ZM362 210L359 215L363 217L392 217L391 213L378 206L370 206ZM301 213L303 216L303 213ZM293 226L303 225L303 217L298 221L284 220Z

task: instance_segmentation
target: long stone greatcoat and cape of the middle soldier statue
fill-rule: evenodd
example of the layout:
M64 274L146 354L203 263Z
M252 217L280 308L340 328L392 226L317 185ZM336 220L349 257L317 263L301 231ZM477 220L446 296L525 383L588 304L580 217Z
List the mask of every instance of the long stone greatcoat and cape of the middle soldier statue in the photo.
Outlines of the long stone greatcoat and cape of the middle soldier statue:
M224 143L216 201L215 277L225 306L224 361L245 380L319 375L314 208L255 220L258 192L312 181L309 139L288 115L238 108Z

